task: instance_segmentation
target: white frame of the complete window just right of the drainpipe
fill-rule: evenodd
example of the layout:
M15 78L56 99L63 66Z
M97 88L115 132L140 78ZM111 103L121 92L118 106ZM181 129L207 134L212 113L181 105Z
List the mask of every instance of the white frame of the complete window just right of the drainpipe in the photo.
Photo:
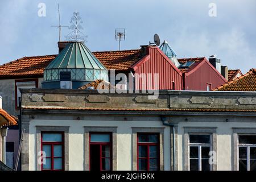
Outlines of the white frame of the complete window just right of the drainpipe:
M189 138L190 138L190 135L210 135L210 143L190 143L190 140L189 140ZM189 134L189 138L188 138L188 158L189 158L189 160L188 160L188 170L190 171L190 159L197 159L197 158L190 158L190 147L198 147L199 148L199 150L198 150L198 152L199 152L199 154L198 154L198 156L199 156L199 158L197 159L197 160L199 160L199 171L202 171L202 164L201 164L201 161L202 161L202 159L205 159L205 158L202 158L202 152L201 152L201 148L202 147L210 147L210 151L212 151L212 134L207 134L207 133L191 133L191 134ZM212 171L213 170L213 165L212 164L210 164L210 171Z

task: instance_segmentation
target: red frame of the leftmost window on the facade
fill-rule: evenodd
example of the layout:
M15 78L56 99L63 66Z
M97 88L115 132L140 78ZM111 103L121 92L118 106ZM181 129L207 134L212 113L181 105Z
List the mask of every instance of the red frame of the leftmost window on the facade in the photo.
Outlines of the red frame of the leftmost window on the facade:
M61 142L43 142L43 134L61 134L62 141ZM51 169L43 169L43 158L41 160L41 170L42 171L64 171L64 132L52 132L52 131L42 131L41 132L41 151L43 151L43 145L50 145L51 146L51 156L46 158L51 158ZM62 146L62 156L61 157L54 157L53 156L53 146L55 145L61 145ZM43 153L41 154L43 156ZM62 159L62 169L54 169L54 159L61 158Z

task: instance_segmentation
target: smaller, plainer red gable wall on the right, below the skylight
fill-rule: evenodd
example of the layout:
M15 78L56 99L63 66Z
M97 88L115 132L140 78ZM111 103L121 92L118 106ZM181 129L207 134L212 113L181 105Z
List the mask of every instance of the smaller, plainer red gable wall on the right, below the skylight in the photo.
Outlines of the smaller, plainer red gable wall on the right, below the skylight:
M207 90L208 83L214 89L226 82L206 61L193 73L186 75L185 90Z

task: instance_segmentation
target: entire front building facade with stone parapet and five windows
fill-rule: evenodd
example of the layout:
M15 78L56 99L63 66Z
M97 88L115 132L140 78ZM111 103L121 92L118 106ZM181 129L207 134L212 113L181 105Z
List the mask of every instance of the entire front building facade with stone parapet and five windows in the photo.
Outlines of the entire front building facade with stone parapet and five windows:
M21 92L23 170L255 169L255 92Z

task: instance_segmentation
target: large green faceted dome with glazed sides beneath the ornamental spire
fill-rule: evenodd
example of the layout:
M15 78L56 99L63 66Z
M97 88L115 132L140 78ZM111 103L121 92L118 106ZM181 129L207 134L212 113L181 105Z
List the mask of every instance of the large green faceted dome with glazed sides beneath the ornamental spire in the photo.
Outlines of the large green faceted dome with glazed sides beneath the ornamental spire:
M68 42L44 70L43 85L46 85L46 88L53 88L48 86L53 85L49 82L60 81L60 72L70 72L71 81L76 84L72 85L72 88L80 85L77 82L86 84L97 79L108 81L108 70L82 42Z

